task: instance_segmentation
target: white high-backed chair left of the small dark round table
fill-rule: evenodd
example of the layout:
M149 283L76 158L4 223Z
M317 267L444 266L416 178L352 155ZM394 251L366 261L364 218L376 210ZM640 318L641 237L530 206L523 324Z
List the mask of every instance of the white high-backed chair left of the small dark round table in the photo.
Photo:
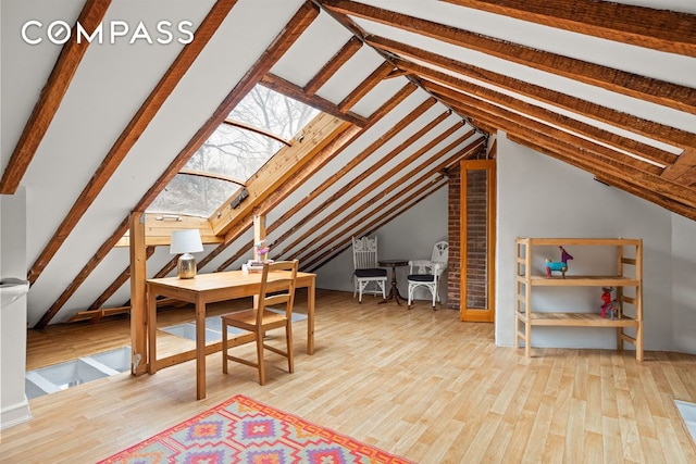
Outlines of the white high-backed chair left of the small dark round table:
M362 303L362 293L372 292L382 298L387 298L387 269L377 267L377 237L352 237L352 264L353 264L353 292L359 294L358 301ZM372 290L365 290L370 284L374 284Z

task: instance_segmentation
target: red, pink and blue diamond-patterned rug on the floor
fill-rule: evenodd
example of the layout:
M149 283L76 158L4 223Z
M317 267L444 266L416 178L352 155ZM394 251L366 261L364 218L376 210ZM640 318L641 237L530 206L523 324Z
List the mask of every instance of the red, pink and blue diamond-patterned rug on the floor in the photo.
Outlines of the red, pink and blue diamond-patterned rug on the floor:
M99 464L410 463L237 394Z

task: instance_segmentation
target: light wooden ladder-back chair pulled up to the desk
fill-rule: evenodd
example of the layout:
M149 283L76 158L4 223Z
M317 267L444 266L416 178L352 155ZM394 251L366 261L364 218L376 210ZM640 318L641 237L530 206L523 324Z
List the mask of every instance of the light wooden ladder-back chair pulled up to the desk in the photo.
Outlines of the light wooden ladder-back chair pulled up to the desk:
M295 302L295 287L297 283L298 261L278 261L265 263L261 275L261 288L254 297L254 306L251 310L239 311L222 315L222 372L227 374L227 361L257 367L259 371L259 384L265 384L265 368L263 364L263 350L270 350L287 358L288 372L295 372L293 359L293 304ZM283 308L276 306L283 305ZM269 311L270 306L284 310L282 314ZM227 327L246 330L240 336L229 336ZM271 347L263 341L268 330L285 327L286 348L282 350ZM249 334L253 338L249 338ZM229 349L239 344L254 341L257 343L257 361L249 361L233 356Z

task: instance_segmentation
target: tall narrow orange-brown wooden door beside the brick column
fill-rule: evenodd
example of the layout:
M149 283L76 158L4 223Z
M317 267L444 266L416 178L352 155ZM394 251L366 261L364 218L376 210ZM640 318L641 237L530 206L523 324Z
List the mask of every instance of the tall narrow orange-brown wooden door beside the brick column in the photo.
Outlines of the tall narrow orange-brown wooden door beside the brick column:
M460 318L495 321L496 162L461 162Z

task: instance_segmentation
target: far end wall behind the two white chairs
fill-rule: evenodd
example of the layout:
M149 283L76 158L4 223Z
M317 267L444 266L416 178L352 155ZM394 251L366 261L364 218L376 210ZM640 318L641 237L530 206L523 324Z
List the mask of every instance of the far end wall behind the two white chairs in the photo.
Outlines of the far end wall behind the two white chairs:
M370 234L372 237L374 234ZM377 254L381 259L430 260L433 246L447 240L447 187L443 187L409 209L378 230ZM391 271L389 269L389 273ZM407 297L408 267L397 267L397 285ZM348 248L316 271L316 287L352 291L352 250ZM391 275L389 274L389 279ZM447 274L443 274L440 298L447 298ZM387 288L388 291L388 288ZM417 299L430 299L427 291L419 289ZM372 298L370 296L363 297Z

